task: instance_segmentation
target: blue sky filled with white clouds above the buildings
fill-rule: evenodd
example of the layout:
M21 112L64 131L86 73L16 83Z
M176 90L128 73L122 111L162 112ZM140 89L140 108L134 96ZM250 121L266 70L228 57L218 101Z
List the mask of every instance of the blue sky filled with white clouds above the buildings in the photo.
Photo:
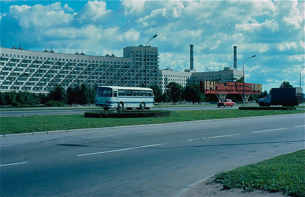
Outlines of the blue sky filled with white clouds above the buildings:
M127 46L158 47L160 69L233 67L263 89L300 86L304 1L0 1L1 46L123 56ZM301 84L304 89L304 70Z

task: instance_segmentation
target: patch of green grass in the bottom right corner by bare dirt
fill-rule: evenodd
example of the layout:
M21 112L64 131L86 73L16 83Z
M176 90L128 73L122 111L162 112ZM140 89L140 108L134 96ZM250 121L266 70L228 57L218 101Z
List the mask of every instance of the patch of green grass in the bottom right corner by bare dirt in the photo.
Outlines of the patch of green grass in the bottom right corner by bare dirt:
M304 149L216 175L225 189L240 187L305 196Z

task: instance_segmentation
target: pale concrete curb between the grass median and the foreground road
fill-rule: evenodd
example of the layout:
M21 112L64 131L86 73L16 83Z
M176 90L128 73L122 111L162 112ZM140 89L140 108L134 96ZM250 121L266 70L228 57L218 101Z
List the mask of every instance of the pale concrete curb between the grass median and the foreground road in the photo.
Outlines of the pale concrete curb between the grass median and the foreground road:
M304 113L278 114L278 115L270 115L270 116L287 116L287 115L296 115L296 114L304 114ZM144 127L144 126L162 125L162 124L180 124L180 123L206 122L206 121L216 121L216 120L233 120L233 119L253 118L253 117L266 117L266 116L250 116L250 117L239 117L239 118L222 118L222 119L212 119L212 120L192 120L192 121L173 122L173 123L140 124L140 125L117 126L117 127L88 128L88 129L70 129L70 130L58 130L58 131L42 131L42 132L19 133L19 134L5 134L5 135L0 135L0 137L1 138L3 138L3 137L5 138L5 137L37 135L37 134L54 134L54 133L74 132L74 131L91 131L91 130L102 130L102 129L114 129L114 128L123 128L123 127Z

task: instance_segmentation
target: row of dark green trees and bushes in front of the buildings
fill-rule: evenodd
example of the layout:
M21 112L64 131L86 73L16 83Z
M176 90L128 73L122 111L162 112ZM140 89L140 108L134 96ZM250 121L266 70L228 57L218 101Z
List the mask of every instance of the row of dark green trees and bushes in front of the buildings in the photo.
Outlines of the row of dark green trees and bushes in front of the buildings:
M242 80L238 82L242 82ZM289 81L283 81L280 85L280 88L282 87L292 87L292 85L289 84ZM150 88L152 88L154 92L156 103L172 102L173 105L175 105L182 101L192 102L193 104L218 101L215 94L203 94L199 89L198 83L191 83L184 88L182 85L172 81L167 84L167 90L164 93L162 93L158 85L152 85ZM96 89L97 86L90 88L82 83L74 87L69 86L66 90L64 90L60 84L56 84L48 94L36 94L28 91L0 91L0 106L34 106L40 104L45 105L46 103L49 104L47 106L52 106L54 105L54 102L63 103L69 106L72 106L73 104L84 106L88 103L95 103ZM269 91L269 94L270 93L271 90ZM260 95L250 95L249 100L257 101L259 98L265 98L267 94L268 92L265 90L262 91ZM226 98L229 98L234 102L242 101L242 97L236 94L227 94Z

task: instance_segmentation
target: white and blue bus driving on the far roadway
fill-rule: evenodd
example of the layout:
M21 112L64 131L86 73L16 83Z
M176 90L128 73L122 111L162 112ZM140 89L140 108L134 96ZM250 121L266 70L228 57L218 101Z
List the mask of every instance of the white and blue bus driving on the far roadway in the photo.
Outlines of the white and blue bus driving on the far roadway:
M95 105L108 110L149 109L154 106L154 95L150 88L125 86L99 86L95 96Z

